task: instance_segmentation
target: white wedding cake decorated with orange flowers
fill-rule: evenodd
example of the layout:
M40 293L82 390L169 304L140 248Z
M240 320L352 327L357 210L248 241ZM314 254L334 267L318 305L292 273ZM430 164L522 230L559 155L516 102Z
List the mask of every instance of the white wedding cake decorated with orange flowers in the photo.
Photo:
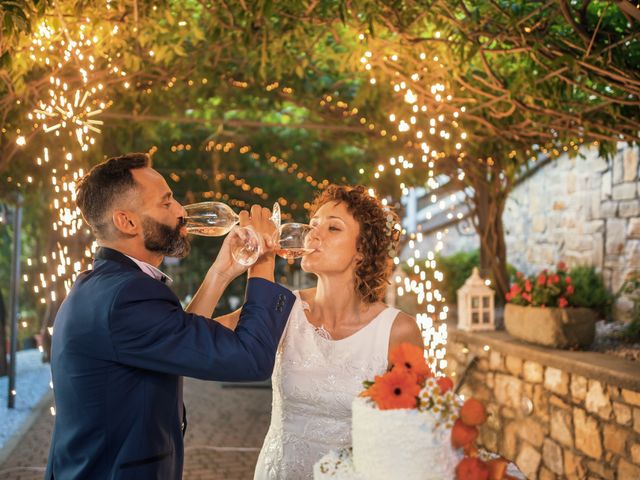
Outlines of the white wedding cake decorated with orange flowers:
M434 377L419 347L400 347L390 370L365 381L353 401L352 447L316 462L314 480L522 478L509 475L517 469L506 460L475 448L484 406L463 403L449 378Z

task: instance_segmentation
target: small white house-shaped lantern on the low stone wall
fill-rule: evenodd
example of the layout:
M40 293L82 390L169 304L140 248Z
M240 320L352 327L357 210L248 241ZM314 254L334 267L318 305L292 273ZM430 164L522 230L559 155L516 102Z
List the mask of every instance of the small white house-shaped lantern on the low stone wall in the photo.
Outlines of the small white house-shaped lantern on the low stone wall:
M460 330L495 330L495 292L480 278L474 267L471 276L458 290L458 328Z

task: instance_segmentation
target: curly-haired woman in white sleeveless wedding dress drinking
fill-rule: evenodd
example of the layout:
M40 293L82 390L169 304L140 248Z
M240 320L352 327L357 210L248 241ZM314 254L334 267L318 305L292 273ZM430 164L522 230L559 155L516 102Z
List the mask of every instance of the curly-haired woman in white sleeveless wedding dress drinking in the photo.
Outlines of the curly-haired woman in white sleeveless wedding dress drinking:
M331 185L316 198L308 237L315 251L302 269L318 283L294 292L254 480L311 479L324 454L351 445L351 402L363 380L386 371L390 347L423 347L415 319L382 301L397 220L362 186Z

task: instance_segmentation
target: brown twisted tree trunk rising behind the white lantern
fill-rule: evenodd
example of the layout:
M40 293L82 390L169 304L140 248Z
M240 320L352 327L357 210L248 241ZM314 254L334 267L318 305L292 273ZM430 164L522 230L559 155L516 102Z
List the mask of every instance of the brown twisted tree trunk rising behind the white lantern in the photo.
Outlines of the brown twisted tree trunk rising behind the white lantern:
M504 238L502 214L506 193L495 182L474 185L476 231L480 237L480 271L490 278L496 291L496 304L503 305L509 291L507 273L507 247Z

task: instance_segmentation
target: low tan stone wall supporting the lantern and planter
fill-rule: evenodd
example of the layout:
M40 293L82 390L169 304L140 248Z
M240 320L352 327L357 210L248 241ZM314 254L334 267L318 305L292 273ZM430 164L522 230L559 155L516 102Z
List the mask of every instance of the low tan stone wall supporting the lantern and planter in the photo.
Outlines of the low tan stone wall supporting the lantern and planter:
M640 369L590 352L450 328L446 373L487 405L479 443L529 479L640 479Z

